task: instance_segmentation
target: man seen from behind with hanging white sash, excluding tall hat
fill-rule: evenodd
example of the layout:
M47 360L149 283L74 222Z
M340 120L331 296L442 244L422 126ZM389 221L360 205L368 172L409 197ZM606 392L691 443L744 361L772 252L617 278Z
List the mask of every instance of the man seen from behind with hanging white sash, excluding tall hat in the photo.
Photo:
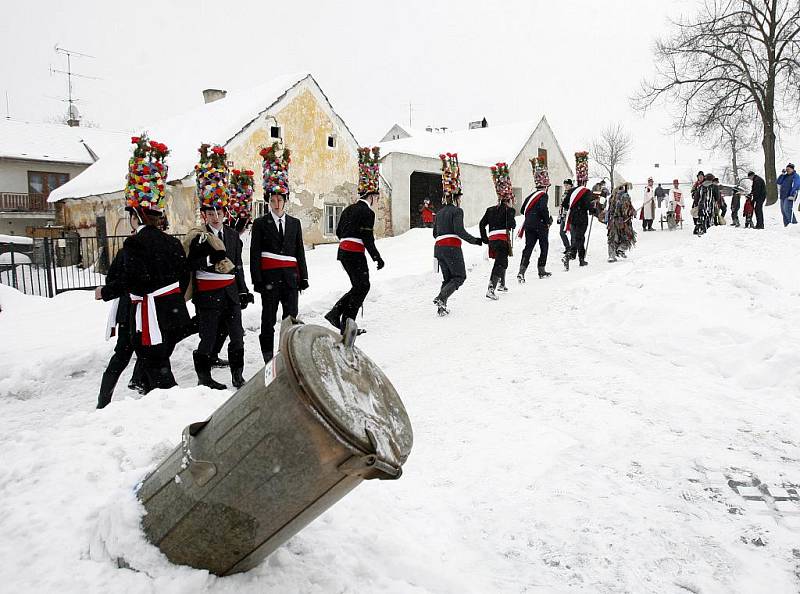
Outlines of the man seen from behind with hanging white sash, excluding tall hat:
M123 285L130 293L131 334L147 389L177 385L169 358L191 333L183 294L189 267L181 242L164 233L163 213L155 207L131 207L134 234L125 240Z

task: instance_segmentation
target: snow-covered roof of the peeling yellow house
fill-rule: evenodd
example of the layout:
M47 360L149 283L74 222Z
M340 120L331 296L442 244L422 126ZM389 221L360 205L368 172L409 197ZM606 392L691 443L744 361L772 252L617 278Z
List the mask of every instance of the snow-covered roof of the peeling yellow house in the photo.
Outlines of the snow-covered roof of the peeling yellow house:
M255 88L231 91L224 99L204 103L150 126L142 126L136 132L146 131L151 139L169 147L167 181L180 180L194 173L197 147L201 143L226 145L306 79L316 85L307 72L280 76ZM66 198L83 198L122 190L130 155L130 139L122 139L113 151L109 151L97 163L52 191L48 201L58 202Z

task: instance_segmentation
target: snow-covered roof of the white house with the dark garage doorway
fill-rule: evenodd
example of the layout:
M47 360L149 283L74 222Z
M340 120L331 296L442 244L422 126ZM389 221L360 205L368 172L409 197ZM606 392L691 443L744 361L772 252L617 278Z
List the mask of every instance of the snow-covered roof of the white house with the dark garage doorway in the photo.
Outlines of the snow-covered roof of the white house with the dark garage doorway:
M519 122L473 130L440 134L423 133L410 138L382 142L378 146L384 156L405 153L438 158L441 153L456 152L461 163L490 166L498 162L513 163L525 148L541 120Z

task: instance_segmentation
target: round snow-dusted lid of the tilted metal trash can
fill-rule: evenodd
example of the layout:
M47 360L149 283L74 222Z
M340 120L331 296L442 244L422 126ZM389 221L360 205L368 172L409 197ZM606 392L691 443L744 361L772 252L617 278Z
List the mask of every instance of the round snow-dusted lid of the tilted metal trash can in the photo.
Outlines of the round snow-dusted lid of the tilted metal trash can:
M325 420L353 446L402 466L413 444L411 421L383 371L322 326L294 326L287 339L287 363Z

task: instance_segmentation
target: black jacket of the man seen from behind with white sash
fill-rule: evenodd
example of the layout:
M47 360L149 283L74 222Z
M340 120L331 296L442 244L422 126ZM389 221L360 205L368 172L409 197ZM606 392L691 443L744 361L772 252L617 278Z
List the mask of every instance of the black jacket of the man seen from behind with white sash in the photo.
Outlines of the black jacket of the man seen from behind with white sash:
M183 299L189 286L189 266L183 245L175 237L146 225L125 240L122 252L122 278L130 293L144 297L172 283L180 284L180 293L155 300L162 335L177 342L186 335L189 325L189 311Z

